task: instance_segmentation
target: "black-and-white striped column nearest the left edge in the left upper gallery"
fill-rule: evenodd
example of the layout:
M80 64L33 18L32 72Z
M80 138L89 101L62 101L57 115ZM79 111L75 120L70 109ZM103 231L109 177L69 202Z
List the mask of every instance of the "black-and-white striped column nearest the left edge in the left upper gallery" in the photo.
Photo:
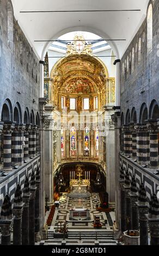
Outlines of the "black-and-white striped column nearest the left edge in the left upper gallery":
M3 166L4 170L12 170L11 167L11 133L14 129L14 123L5 122L3 125Z

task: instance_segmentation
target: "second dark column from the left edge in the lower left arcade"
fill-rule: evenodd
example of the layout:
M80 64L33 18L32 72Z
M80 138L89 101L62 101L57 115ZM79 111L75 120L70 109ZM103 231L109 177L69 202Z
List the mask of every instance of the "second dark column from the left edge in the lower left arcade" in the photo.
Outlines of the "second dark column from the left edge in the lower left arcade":
M22 244L22 211L23 205L15 206L13 210L14 224L13 224L13 245L21 245Z

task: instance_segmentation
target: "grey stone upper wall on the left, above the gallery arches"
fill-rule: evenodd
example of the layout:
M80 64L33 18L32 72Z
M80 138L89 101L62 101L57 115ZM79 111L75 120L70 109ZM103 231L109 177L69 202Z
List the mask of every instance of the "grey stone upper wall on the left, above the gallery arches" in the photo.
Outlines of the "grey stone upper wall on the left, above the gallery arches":
M22 118L26 107L29 113L33 109L36 115L39 108L39 60L14 18L11 1L2 0L0 5L0 115L5 99L11 101L13 109L19 102ZM13 23L9 22L12 28L8 27L8 11L13 17ZM9 29L13 40L9 38Z

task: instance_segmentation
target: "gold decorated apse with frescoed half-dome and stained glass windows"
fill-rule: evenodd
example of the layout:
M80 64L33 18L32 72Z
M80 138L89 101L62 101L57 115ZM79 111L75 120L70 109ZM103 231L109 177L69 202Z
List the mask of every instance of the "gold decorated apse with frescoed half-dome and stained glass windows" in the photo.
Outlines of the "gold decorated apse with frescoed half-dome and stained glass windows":
M90 119L90 124L87 124L84 119L83 129L78 129L76 121L79 120L74 119L70 123L71 116L68 113L76 111L79 114L86 111L97 114L104 111L105 106L112 106L115 102L115 78L109 77L105 64L93 55L91 45L85 42L83 36L75 36L72 44L67 47L66 56L53 66L50 77L48 68L45 68L46 97L62 113L61 158L62 161L98 161L105 145L99 136L97 121L92 129L93 121ZM63 109L66 109L67 119L64 119ZM71 124L69 128L66 125L68 123ZM102 164L105 166L104 162Z

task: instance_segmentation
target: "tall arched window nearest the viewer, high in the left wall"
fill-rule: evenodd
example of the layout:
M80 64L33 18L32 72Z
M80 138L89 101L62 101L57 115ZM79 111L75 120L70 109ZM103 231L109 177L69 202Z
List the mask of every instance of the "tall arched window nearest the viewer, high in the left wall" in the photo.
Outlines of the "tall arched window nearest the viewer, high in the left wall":
M8 15L8 46L13 50L13 7L8 1L7 3L7 15Z

